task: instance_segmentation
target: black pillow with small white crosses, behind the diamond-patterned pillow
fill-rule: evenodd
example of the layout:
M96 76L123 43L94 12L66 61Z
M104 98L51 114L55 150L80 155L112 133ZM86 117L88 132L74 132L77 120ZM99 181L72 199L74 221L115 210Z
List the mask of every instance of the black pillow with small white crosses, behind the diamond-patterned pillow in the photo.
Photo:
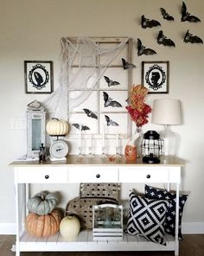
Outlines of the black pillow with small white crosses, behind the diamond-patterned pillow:
M166 220L164 222L165 232L175 236L175 202L176 194L169 192L165 189L157 189L148 185L145 185L145 195L148 198L162 199L169 201L169 207L167 209ZM179 230L178 237L182 240L182 212L187 201L188 195L179 195Z

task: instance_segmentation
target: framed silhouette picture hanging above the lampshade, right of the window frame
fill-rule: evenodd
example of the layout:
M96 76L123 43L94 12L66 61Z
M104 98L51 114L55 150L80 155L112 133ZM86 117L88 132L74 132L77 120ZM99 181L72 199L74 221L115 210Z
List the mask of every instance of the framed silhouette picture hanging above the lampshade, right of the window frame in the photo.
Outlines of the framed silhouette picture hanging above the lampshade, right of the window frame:
M149 93L169 93L169 61L142 61L142 85Z

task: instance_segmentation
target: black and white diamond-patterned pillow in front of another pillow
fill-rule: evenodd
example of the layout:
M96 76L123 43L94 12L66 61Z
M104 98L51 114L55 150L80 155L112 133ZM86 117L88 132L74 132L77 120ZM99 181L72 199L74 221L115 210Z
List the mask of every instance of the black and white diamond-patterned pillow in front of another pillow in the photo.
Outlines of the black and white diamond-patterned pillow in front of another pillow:
M168 205L167 201L148 199L131 192L127 233L140 234L147 240L166 245L163 223Z

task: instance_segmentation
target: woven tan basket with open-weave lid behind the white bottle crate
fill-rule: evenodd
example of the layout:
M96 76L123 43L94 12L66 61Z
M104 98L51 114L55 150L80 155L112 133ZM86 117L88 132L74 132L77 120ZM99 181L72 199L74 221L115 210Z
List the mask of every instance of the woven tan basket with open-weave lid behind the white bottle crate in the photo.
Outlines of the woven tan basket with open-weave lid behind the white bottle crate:
M103 203L118 204L118 184L81 183L80 196L75 197L66 206L66 214L79 217L82 228L92 228L92 206Z

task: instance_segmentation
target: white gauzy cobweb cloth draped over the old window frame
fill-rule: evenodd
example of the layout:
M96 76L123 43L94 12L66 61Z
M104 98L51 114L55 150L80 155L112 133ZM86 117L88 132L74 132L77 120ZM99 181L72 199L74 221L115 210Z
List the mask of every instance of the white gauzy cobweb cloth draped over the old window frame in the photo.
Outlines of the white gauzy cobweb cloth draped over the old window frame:
M89 97L105 69L129 40L125 37L122 42L103 48L103 44L89 37L77 37L74 41L68 37L61 38L60 86L43 102L50 117L67 120L69 112ZM100 61L98 64L101 56L103 63ZM69 92L73 90L78 93L75 97L72 94L71 98Z

